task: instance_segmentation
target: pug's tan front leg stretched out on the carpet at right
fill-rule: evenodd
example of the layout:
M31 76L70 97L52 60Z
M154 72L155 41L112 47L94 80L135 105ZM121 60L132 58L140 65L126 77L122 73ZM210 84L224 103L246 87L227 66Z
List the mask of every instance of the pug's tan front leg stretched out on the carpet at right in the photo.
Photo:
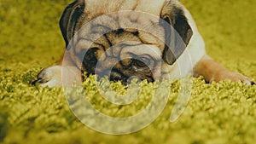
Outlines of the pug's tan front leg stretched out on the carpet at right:
M218 82L222 80L231 80L232 82L241 81L241 83L253 85L254 83L237 72L231 72L218 62L212 60L208 55L204 55L194 67L194 77L203 76L207 82Z

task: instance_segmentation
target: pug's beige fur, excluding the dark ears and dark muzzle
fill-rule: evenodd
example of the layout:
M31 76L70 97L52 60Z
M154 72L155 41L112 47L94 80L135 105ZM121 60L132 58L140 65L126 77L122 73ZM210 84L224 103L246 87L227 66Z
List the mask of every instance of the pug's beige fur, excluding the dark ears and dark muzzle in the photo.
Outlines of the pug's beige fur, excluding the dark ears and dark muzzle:
M132 58L131 54L151 55L154 60L158 60L154 66L148 66L156 79L183 78L189 72L194 72L195 77L203 76L207 82L230 79L253 84L249 78L230 72L206 54L205 44L196 28L195 21L189 14L189 10L177 0L79 0L77 3L85 3L85 8L76 24L73 43L69 43L74 49L67 50L61 60L62 67L72 66L69 70L76 72L77 75L81 74L79 70L89 71L88 67L81 64L83 59L77 54L83 53L84 50L97 48L98 50L93 53L98 60L96 72L106 72L107 75L109 67L113 66L124 74L131 75L131 72L126 71L124 66L119 64L119 59L124 60L123 63L128 66L131 62L129 60ZM164 7L166 5L167 7ZM172 13L174 8L172 6L183 10L193 35L183 54L172 65L169 65L161 60L165 49L166 33L159 21L160 17ZM107 31L104 26L112 31L103 36L102 34ZM124 32L116 34L119 27L123 28ZM132 32L137 32L137 36ZM123 46L119 43L127 45ZM113 59L113 57L119 59ZM138 74L140 71L136 69ZM60 73L61 66L46 68L39 73L38 79L47 78L47 81L40 80L39 82L42 86L60 86ZM149 74L146 73L142 78L147 78ZM73 80L78 81L78 79L75 76Z

